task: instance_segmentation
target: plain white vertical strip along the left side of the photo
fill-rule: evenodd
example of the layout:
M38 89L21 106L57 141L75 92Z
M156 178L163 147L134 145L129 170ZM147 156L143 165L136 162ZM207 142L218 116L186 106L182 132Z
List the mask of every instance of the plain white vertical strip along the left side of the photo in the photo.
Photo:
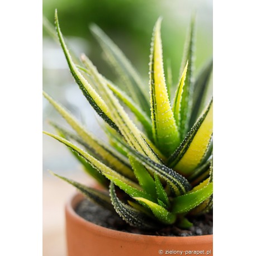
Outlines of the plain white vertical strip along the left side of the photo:
M41 1L1 4L0 255L42 255Z

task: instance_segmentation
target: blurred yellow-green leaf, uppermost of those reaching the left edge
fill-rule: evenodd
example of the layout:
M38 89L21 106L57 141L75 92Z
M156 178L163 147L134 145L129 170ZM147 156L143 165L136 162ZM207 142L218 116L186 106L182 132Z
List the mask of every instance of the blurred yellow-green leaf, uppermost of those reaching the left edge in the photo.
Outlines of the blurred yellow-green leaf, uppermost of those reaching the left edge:
M47 93L43 92L44 97L53 105L53 107L60 113L61 116L68 122L68 124L77 132L79 137L86 143L86 147L89 148L93 153L96 153L104 159L108 165L120 171L127 177L134 178L134 173L132 172L129 164L125 162L124 158L121 157L116 151L112 150L109 146L103 142L94 138L91 132L87 131L85 127L80 124L80 122L70 113L67 109L61 106L58 102L54 101ZM56 127L56 125L55 125ZM67 131L56 127L65 134L68 134ZM69 134L68 134L69 135ZM75 138L73 138L75 139Z

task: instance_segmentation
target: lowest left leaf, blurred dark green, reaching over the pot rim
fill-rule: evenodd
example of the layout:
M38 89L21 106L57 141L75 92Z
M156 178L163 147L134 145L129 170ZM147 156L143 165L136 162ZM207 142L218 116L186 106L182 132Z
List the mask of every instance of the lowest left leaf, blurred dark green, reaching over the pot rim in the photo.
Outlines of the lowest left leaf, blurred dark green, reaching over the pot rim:
M113 206L111 204L110 196L108 196L106 193L98 191L94 188L89 188L87 186L84 186L83 184L80 184L78 182L73 181L72 179L65 178L63 176L60 176L56 173L50 172L54 176L63 179L63 181L68 182L69 184L72 184L74 187L76 187L80 192L83 193L83 195L87 196L90 200L97 203L98 205L107 208L108 210L113 211Z

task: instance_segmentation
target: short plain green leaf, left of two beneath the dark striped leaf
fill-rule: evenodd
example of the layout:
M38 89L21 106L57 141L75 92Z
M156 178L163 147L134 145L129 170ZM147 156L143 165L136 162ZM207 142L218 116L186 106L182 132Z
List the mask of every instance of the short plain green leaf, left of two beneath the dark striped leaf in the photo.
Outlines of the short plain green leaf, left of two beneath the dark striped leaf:
M134 170L134 174L139 181L140 186L144 191L154 198L157 198L157 190L155 188L154 179L149 174L148 170L137 159L129 155L129 160Z

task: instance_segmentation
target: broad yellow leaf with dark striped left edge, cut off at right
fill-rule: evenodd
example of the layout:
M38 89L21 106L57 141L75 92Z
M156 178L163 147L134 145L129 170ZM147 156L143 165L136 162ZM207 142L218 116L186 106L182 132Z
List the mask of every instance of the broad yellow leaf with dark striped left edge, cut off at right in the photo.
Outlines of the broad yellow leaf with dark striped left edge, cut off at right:
M212 105L211 100L202 116L168 160L170 167L183 176L189 176L207 152L212 137Z

